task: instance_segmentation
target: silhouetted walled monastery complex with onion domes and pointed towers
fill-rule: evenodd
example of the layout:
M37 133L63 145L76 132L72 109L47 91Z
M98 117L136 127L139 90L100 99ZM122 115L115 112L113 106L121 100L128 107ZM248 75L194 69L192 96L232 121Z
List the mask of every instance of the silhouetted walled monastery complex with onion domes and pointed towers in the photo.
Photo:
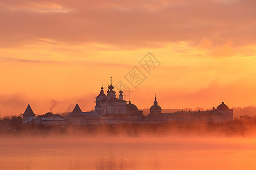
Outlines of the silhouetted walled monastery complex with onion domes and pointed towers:
M106 94L101 85L100 94L96 97L94 111L82 112L79 104L76 104L72 112L63 118L37 118L28 104L23 116L23 124L72 124L72 125L100 125L100 124L147 124L162 123L172 121L206 121L206 122L231 122L233 121L233 109L222 102L215 109L210 111L179 111L174 113L162 113L162 108L158 101L150 107L150 114L144 116L137 106L131 101L123 100L122 87L120 87L119 97L116 97L112 79Z

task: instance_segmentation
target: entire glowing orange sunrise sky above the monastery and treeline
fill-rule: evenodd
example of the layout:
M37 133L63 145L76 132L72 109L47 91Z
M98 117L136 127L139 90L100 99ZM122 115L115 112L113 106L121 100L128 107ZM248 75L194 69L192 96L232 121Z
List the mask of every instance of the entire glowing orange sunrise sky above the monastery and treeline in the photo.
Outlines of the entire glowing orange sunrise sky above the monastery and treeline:
M256 101L256 2L0 2L1 116L82 111L137 66L147 76L131 101L162 108L229 107ZM139 61L151 52L160 66Z

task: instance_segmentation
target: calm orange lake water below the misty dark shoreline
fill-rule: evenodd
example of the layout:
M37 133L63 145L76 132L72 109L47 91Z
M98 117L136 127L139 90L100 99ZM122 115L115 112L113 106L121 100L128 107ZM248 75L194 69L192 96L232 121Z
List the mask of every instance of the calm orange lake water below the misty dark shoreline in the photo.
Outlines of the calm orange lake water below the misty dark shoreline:
M0 137L0 169L255 169L256 139Z

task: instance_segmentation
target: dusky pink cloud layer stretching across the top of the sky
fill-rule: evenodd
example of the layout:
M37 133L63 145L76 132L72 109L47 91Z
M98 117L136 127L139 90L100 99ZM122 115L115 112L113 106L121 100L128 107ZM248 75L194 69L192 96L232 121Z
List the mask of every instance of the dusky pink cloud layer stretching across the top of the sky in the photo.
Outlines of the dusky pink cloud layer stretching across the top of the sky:
M245 45L255 42L254 7L254 1L5 1L0 41L50 39L127 47L211 39L213 45L228 40Z

